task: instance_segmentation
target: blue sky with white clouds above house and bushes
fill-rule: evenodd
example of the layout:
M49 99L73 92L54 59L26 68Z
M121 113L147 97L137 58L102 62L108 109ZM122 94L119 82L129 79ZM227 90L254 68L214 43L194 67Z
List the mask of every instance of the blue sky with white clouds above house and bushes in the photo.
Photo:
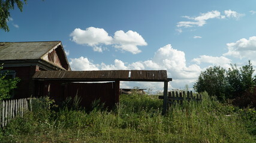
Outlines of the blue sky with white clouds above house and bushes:
M10 12L0 41L62 41L73 70L167 70L170 87L182 89L209 66L256 66L253 0L34 0Z

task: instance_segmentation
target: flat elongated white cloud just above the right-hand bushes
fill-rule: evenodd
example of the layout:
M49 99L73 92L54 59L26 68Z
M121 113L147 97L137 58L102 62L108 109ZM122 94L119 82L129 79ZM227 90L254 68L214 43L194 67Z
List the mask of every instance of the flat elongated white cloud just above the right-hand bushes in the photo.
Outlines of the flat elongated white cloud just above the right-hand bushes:
M192 61L194 61L197 64L201 63L209 63L212 64L213 66L221 66L224 68L230 67L231 60L226 57L212 57L209 55L200 55L200 58L194 58Z

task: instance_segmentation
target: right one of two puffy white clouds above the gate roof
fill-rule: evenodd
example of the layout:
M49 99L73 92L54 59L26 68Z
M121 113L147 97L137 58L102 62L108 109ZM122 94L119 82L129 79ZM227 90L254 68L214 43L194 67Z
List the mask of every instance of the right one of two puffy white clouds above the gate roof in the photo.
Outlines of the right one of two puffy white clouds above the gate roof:
M132 54L138 54L141 52L137 46L146 46L147 43L144 41L141 35L137 32L133 32L129 30L128 32L124 32L122 30L116 31L114 36L114 42L117 44L115 48L129 51Z

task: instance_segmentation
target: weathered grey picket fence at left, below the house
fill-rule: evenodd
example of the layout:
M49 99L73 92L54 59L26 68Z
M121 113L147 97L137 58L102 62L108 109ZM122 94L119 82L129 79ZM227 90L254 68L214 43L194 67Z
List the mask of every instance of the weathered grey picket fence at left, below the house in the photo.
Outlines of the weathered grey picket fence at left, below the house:
M0 101L0 126L4 127L14 117L23 117L25 111L32 110L32 99L23 98L19 100Z

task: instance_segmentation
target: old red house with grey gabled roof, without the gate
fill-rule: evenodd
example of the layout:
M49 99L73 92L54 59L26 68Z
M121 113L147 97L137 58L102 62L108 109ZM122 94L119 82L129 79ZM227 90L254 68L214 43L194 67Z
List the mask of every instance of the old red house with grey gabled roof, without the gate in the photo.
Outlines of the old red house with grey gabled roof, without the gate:
M34 93L32 76L36 71L71 70L61 41L0 42L0 64L21 79L14 98Z

